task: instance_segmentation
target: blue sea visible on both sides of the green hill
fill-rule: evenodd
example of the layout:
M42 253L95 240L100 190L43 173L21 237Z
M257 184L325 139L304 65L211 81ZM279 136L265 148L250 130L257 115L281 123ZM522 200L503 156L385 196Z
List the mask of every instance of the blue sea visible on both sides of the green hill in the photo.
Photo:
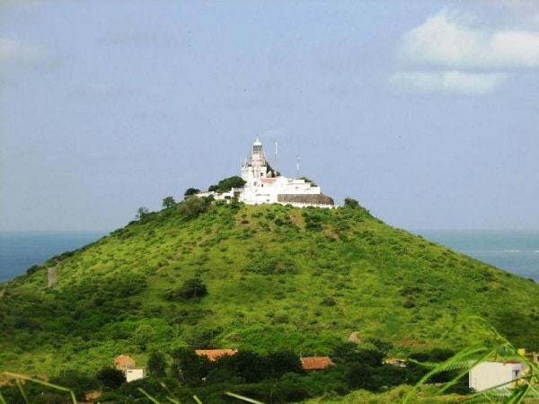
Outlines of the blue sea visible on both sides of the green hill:
M474 259L539 283L539 231L423 230L412 233ZM0 233L0 282L66 251L100 239L105 232Z

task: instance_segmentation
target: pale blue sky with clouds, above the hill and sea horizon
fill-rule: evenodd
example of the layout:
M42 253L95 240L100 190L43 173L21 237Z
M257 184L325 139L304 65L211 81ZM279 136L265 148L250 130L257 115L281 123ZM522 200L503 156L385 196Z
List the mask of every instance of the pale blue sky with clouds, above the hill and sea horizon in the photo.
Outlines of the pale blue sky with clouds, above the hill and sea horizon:
M535 1L0 5L0 230L278 169L414 229L539 229Z

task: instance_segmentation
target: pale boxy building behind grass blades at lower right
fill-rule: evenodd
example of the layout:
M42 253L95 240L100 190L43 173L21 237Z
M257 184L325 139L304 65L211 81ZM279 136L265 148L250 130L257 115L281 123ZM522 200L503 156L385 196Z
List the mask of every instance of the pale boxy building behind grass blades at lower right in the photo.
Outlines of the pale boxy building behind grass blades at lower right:
M468 386L474 391L515 388L517 379L526 371L526 365L513 362L482 362L468 373Z

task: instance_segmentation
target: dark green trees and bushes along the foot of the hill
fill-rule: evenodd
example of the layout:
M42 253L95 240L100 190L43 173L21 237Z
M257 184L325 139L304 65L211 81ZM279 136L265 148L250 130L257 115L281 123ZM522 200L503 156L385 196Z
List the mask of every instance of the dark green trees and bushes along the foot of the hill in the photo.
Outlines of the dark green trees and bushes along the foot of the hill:
M439 361L441 357L451 355L446 350L433 349L416 356ZM161 354L155 352L150 358L158 356ZM143 389L160 402L168 402L168 397L180 402L193 402L193 395L207 404L237 402L224 394L234 391L253 400L285 403L321 396L335 398L358 389L387 391L403 383L418 382L429 371L420 364L410 363L405 368L383 364L382 351L378 348L362 349L356 343L345 343L334 349L331 354L334 364L316 372L305 371L299 356L291 351L267 355L239 351L234 356L222 356L212 362L206 356L197 356L190 348L181 347L174 349L171 356L168 376L164 368L157 366L159 374L152 372L145 380L126 383L123 373L105 366L93 377L70 370L53 377L50 382L70 389L78 400L84 400L85 393L101 390L100 402L132 402L135 399L137 402L152 402L139 391ZM447 382L454 375L446 373L437 381ZM467 393L465 384L454 386L453 392ZM45 400L41 397L43 391L47 393ZM25 393L30 402L64 403L68 397L66 391L35 385L25 389ZM20 389L14 385L0 387L1 397L10 403L24 402Z

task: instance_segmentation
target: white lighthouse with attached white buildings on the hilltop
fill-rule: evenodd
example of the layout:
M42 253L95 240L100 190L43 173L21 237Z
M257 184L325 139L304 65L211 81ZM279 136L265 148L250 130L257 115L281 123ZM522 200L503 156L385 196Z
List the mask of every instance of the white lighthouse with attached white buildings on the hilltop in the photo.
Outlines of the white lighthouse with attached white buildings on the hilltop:
M225 193L201 192L199 197L213 196L216 199L238 198L247 205L274 204L292 206L334 207L333 199L323 195L320 187L305 179L291 179L271 168L262 144L257 137L252 144L249 159L241 167L245 185L242 189L231 189Z

